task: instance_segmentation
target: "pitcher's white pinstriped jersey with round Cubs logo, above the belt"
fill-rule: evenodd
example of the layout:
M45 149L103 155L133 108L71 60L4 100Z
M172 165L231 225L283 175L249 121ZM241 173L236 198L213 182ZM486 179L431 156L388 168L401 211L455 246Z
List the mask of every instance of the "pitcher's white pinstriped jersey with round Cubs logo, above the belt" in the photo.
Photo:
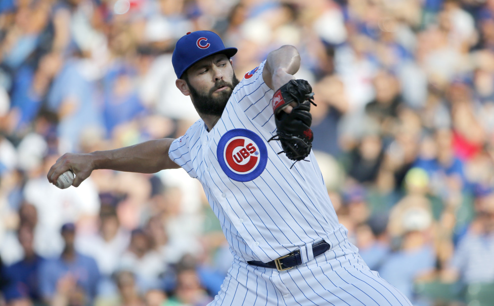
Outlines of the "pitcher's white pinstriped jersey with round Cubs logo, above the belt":
M266 62L266 61L265 61ZM197 178L233 254L269 262L338 230L338 219L311 153L293 161L279 142L265 62L234 88L211 131L202 119L176 139L170 158Z

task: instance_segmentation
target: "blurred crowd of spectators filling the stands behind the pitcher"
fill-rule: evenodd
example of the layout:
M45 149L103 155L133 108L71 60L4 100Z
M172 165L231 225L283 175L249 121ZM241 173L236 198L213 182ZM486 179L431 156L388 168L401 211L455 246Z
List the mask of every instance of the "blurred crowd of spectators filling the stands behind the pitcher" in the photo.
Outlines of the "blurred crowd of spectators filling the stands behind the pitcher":
M171 53L212 30L242 76L283 44L365 262L414 305L494 305L494 0L0 0L0 305L203 306L232 257L198 181L65 152L178 137Z

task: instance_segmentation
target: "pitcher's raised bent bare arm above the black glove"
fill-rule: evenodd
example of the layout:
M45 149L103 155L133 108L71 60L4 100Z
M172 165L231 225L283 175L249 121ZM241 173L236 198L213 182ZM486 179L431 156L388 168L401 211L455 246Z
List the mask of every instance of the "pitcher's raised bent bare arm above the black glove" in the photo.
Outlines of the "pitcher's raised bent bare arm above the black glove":
M300 68L300 54L294 46L284 45L269 52L263 79L271 89L278 89L289 80Z

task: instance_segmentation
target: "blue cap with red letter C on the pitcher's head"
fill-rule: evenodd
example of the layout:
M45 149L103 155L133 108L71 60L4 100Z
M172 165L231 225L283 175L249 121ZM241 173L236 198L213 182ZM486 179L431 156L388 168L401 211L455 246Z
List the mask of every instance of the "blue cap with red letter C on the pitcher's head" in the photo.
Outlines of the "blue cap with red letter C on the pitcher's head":
M189 32L182 36L177 41L172 55L173 69L177 78L198 61L218 53L230 58L237 53L237 48L225 48L223 40L211 31Z

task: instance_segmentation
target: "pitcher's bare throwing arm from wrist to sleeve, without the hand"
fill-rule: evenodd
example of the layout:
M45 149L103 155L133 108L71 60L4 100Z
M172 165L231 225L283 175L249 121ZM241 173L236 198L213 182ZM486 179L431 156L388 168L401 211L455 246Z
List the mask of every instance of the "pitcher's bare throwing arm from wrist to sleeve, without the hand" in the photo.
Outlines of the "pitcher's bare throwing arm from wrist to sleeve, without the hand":
M163 169L179 168L168 156L172 142L173 139L165 138L130 147L90 153L92 169L155 173Z

